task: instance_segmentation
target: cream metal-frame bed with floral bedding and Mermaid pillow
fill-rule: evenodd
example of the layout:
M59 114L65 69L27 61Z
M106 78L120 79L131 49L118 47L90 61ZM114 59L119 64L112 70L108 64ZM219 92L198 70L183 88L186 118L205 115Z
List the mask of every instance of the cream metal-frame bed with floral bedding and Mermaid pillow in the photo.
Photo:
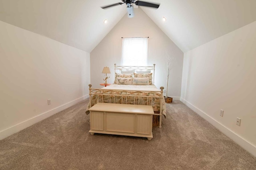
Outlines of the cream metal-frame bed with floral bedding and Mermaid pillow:
M86 108L86 114L88 115L89 109L97 103L152 106L154 111L152 126L161 128L162 115L166 118L166 106L163 96L164 87L158 89L154 85L155 64L153 66L116 66L114 64L114 69L114 84L104 88L92 88L89 84L90 102ZM123 76L123 74L126 75ZM130 84L131 80L138 81ZM139 85L134 85L135 83Z

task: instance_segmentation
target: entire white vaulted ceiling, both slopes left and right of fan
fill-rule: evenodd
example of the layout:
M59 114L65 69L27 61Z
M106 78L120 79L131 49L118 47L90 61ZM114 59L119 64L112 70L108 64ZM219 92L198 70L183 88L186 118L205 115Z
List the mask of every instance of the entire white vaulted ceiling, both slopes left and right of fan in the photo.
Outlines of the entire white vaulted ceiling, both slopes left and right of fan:
M256 0L145 1L160 3L157 10L141 9L183 52L256 21ZM0 0L0 20L90 53L126 17L125 4L100 8L118 2L122 1Z

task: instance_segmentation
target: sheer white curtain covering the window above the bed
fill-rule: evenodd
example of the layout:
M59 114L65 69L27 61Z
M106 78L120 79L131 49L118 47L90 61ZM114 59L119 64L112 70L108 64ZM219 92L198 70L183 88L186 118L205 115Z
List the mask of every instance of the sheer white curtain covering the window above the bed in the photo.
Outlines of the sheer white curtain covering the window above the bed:
M122 38L122 66L148 65L148 38Z

